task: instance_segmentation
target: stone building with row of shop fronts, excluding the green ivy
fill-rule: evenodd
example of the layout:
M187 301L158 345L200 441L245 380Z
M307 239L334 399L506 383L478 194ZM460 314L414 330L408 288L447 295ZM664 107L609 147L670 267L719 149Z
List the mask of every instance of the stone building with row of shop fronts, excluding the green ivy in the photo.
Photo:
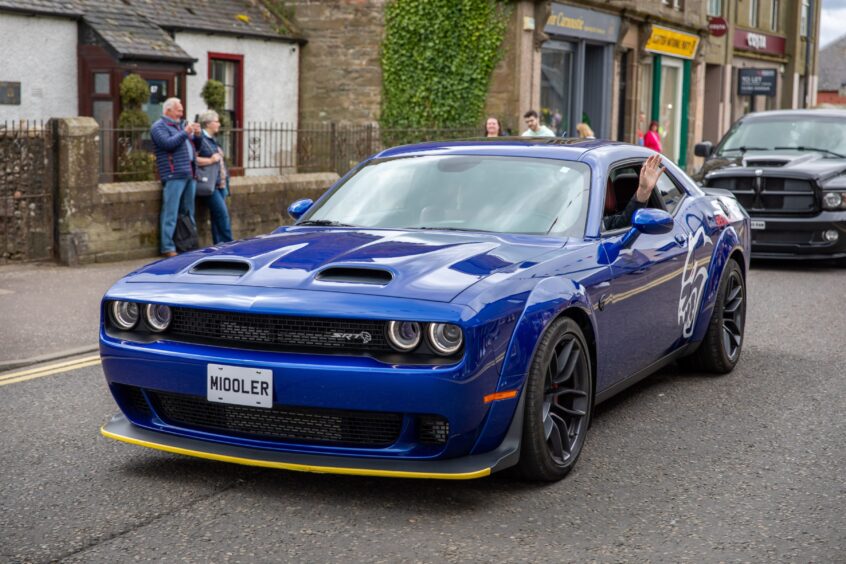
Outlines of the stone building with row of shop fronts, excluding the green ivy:
M300 118L379 119L385 0L290 0L302 50ZM487 111L512 132L537 109L559 135L638 140L659 122L664 152L692 168L693 145L746 112L814 104L820 2L520 0ZM806 60L806 46L810 45ZM809 71L806 71L808 64ZM740 92L754 83L756 95Z

